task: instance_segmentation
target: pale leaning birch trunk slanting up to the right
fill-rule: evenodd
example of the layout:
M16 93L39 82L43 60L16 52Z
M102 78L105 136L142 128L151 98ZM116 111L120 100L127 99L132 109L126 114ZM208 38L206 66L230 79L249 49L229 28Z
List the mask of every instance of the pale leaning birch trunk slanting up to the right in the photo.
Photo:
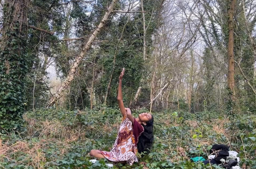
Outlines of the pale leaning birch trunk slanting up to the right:
M66 80L61 84L61 87L56 92L56 94L53 96L53 98L49 101L49 103L47 104L46 107L53 106L53 104L62 97L62 92L65 91L70 86L71 82L74 79L76 69L78 68L79 64L81 63L81 61L84 58L87 51L90 49L91 44L95 40L96 36L99 34L101 29L104 27L105 21L108 19L108 16L113 11L113 7L116 2L117 2L117 0L112 0L110 6L108 6L107 11L102 18L100 24L98 25L96 30L94 30L94 32L91 34L87 43L85 43L81 53L78 55L78 57L76 57L75 62L72 64Z

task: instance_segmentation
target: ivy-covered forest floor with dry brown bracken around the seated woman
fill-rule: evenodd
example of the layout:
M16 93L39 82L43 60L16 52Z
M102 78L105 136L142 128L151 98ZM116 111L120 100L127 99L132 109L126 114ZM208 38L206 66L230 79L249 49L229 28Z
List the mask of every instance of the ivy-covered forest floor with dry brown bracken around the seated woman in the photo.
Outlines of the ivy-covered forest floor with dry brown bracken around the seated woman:
M145 110L133 112L134 116ZM194 163L213 144L226 144L239 153L239 165L256 168L256 115L239 114L229 120L216 112L153 112L154 145L139 163L115 165L136 169L213 169ZM91 149L110 151L121 122L118 109L62 111L39 109L27 112L25 130L0 138L0 168L5 169L99 169L105 160L92 164Z

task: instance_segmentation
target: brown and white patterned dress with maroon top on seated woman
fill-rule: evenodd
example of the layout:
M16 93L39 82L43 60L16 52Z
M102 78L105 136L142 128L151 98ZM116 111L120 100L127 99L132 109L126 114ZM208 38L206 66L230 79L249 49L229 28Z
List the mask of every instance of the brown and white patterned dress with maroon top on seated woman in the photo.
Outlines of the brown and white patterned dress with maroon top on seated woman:
M125 114L112 150L101 151L101 154L112 162L126 161L129 165L133 165L134 162L138 162L137 142L143 132L142 125L135 118L132 125L131 120Z

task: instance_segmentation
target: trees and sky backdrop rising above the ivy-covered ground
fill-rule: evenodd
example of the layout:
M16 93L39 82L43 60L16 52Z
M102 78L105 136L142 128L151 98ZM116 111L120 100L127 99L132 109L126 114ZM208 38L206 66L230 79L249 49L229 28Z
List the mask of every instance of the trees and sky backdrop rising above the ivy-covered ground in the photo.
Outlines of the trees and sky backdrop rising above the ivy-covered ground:
M57 109L115 107L122 67L126 106L191 113L256 110L253 0L232 1L232 10L229 1L218 0L12 2L1 4L0 115L6 120L18 120L51 99L48 106ZM18 15L12 9L17 4L26 6L15 9ZM101 23L70 83L56 97ZM232 102L229 50L234 54Z

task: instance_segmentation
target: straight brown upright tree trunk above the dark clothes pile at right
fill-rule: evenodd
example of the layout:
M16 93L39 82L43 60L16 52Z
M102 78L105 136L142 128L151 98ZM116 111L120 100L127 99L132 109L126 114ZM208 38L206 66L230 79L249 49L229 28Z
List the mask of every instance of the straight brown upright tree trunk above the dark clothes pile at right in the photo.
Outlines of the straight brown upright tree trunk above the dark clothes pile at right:
M228 43L228 60L229 60L229 67L228 67L228 75L227 75L227 82L228 88L230 90L231 100L232 102L235 100L235 61L234 61L234 11L235 11L235 4L236 0L231 0L229 7L228 7L228 28L229 28L229 43Z

